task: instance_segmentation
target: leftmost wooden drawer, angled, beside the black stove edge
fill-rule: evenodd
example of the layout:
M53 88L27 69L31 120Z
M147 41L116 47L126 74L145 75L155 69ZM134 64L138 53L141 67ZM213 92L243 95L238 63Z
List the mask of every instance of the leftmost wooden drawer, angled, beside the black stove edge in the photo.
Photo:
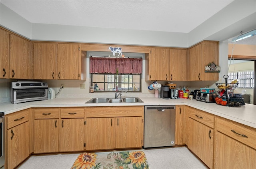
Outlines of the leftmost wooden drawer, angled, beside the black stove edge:
M24 123L29 119L29 109L21 110L5 117L7 123L7 129L10 129L16 125Z

